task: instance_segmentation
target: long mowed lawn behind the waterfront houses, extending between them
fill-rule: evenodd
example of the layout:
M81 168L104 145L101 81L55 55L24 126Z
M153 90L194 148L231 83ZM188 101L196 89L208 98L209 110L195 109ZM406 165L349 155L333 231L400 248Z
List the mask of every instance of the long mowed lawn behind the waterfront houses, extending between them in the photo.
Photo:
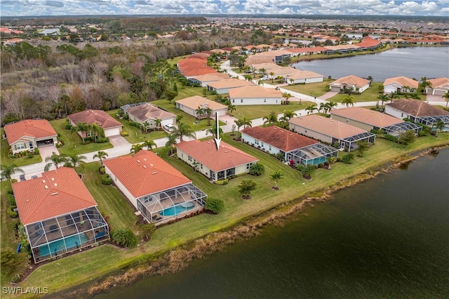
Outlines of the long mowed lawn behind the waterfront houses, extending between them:
M139 248L123 250L112 248L111 246L100 246L85 253L62 258L55 263L49 263L39 267L20 286L45 285L49 286L53 293L73 286L74 284L81 284L90 279L97 279L107 272L119 270L127 265L135 265L139 260L153 258L154 255L169 251L175 246L203 237L210 232L225 230L250 217L250 215L267 211L269 208L302 197L310 192L321 190L323 187L344 182L354 175L389 163L404 154L431 146L447 145L449 143L449 133L440 133L438 139L434 137L419 138L415 143L405 148L393 142L378 139L376 140L376 145L366 152L365 157L356 157L353 164L337 163L333 165L331 171L318 169L312 175L312 180L304 180L299 171L289 168L269 154L242 142L235 142L231 140L228 134L223 135L222 138L229 144L260 159L260 162L265 166L265 174L260 177L245 175L234 178L225 186L213 185L203 175L195 173L192 167L187 166L184 162L173 157L166 157L165 153L168 149L158 149L160 156L180 170L187 178L190 178L194 182L194 185L206 192L209 196L223 199L225 201L225 208L222 213L219 215L205 213L160 227L153 234L151 241L143 244ZM86 168L86 175L88 175L88 171L91 171L90 169L95 171L96 167L98 167L98 162L96 166ZM269 180L269 174L276 170L281 170L284 178L279 181L280 190L273 191L271 189L272 182ZM86 178L91 180L91 177ZM237 192L237 185L244 179L251 179L257 182L257 189L252 192L252 198L250 200L242 200L240 194ZM92 180L95 179L92 178ZM89 188L91 189L92 187L100 186L94 184ZM94 195L94 197L97 198L98 194ZM108 197L105 196L105 200ZM119 201L118 198L115 200ZM101 206L101 200L98 199L98 201L100 210L105 209ZM112 210L116 209L112 208ZM126 222L128 222L128 225L132 225L133 222L128 219L121 219L121 221L122 223L119 221L115 225L126 225Z

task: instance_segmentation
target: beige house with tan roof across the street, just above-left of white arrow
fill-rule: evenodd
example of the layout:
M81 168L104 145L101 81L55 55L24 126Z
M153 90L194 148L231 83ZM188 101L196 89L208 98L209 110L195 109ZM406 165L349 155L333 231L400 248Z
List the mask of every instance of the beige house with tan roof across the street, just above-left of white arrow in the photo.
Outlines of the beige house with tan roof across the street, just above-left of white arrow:
M198 108L209 108L211 117L215 117L217 114L220 117L222 115L226 115L227 113L227 105L220 104L219 102L215 102L213 100L208 100L199 95L194 95L193 97L177 100L176 107L177 109L181 109L185 113L192 115L192 117L196 117L199 119L201 117L204 117L206 113L198 115L196 113Z

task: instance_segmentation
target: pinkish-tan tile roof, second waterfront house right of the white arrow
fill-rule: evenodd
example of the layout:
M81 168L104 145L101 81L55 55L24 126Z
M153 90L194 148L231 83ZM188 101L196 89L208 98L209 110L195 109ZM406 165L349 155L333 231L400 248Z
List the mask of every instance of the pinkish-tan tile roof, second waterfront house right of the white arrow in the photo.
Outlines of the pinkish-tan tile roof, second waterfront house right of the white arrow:
M306 117L293 117L288 123L337 139L347 138L366 132L363 128L357 128L356 126L351 126L350 124L345 124L335 119L320 117L316 114L307 115Z

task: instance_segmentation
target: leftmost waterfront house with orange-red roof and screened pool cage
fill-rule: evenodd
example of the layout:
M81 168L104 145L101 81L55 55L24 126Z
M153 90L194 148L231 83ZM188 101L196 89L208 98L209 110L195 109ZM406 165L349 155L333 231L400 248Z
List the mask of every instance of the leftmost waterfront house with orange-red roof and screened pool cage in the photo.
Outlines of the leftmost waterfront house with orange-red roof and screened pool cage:
M15 182L13 192L35 263L109 239L107 222L74 168Z

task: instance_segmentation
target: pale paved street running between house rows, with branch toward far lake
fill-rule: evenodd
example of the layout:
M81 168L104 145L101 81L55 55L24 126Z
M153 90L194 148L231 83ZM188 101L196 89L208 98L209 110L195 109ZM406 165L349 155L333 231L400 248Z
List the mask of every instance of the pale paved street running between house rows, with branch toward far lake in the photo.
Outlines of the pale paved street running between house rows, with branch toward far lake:
M230 62L229 60L224 62L222 64L222 69L226 69L228 74L231 74L232 77L239 77L239 79L243 79L243 76L240 74L237 74L236 72L234 72L231 67L230 67ZM257 82L255 82L257 83ZM282 88L281 86L285 86L285 84L280 84L279 86L276 85L271 85L271 84L267 84L267 88L276 88L279 87L279 90L282 92L288 92L291 95L293 95L293 97L295 98L300 98L302 100L308 100L310 102L316 102L317 105L319 105L321 102L326 103L327 99L329 98L330 93L326 93L325 95L319 97L319 98L314 98L311 95L305 95L303 93L297 93L295 91L289 91L288 89ZM432 99L433 100L433 99ZM438 101L432 101L432 102L428 102L431 105L442 105L443 103L441 102L441 100ZM377 101L373 101L373 102L356 102L354 103L355 107L363 107L363 106L375 106L377 104ZM337 105L337 107L335 107L334 109L342 109L345 108L345 105L342 105L341 103L339 103ZM307 115L307 111L304 109L301 110L296 110L295 113L298 115L298 117ZM283 114L278 114L278 119L283 117ZM234 122L229 121L229 119L227 120L227 125L225 126L221 126L220 128L222 128L223 133L229 133L232 131L232 125L234 124ZM232 122L232 123L231 123ZM260 119L253 119L252 120L252 124L253 126L262 126L264 124L264 121L262 118ZM207 138L210 137L210 134L208 134L206 132L206 130L202 130L202 131L196 131L196 138L200 139L200 138ZM185 140L189 140L189 138L184 138ZM168 139L166 137L164 138L159 138L159 139L155 139L153 140L157 147L165 147L166 142L168 141ZM108 154L108 158L113 158L113 157L119 157L119 156L123 156L125 154L129 154L130 153L130 147L131 144L129 145L121 145L121 146L117 146L117 147L113 147L112 149L108 149L108 150L103 150L104 152L107 152ZM83 154L83 156L86 156L86 162L92 162L92 161L98 161L98 159L93 159L93 156L96 154L97 152L89 152L86 154ZM40 175L40 173L43 172L43 168L46 166L46 162L41 162L41 163L36 163L36 164L31 164L31 165L27 165L27 166L21 166L20 168L23 169L23 171L25 171L25 178L28 180L29 178L31 178L32 175ZM12 178L19 178L20 173L16 173L15 175L12 176Z

